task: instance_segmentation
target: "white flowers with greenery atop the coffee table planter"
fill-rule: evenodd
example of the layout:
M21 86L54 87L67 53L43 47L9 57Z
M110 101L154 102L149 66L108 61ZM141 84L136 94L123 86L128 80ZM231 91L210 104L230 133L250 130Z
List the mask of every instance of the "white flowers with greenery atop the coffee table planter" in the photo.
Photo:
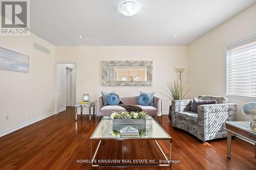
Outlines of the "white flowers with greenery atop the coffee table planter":
M113 111L111 112L111 115L110 117L112 119L114 118L122 118L122 119L147 119L148 117L148 114L144 111L141 111L141 112L124 112L124 111L121 111L121 112L117 112L117 111Z

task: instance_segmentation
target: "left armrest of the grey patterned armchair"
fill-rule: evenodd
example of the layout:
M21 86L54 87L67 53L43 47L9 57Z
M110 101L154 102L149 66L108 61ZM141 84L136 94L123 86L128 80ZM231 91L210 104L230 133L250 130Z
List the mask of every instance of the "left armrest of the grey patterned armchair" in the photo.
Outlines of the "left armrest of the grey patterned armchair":
M172 101L172 125L174 127L176 127L175 112L190 111L192 101L193 100L175 100L175 101Z

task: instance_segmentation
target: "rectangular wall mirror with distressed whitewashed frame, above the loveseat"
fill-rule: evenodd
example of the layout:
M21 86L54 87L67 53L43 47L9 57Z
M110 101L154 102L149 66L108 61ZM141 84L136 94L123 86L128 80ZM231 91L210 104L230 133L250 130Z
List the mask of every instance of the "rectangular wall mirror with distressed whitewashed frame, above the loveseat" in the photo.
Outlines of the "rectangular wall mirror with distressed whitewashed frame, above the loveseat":
M152 61L102 61L103 86L151 86Z

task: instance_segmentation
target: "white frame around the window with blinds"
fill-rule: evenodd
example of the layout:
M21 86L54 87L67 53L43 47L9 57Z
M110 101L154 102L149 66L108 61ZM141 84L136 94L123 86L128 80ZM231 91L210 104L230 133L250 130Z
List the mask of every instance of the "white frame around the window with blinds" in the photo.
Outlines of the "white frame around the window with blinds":
M250 39L253 39L253 38L256 38L256 34L253 34L252 36L249 36L249 37L246 37L244 39L241 39L241 40L238 40L236 42L233 42L232 44L229 44L227 46L224 47L224 57L225 57L225 76L224 76L224 84L225 84L225 96L226 98L229 98L229 99L233 99L233 100L239 100L239 101L250 101L250 102L256 102L256 97L253 98L253 97L249 97L249 96L240 96L240 95L230 95L230 94L227 94L227 49L230 47L230 46L233 46L233 45L236 45L236 44L239 44L239 43L243 43L244 41L248 41Z

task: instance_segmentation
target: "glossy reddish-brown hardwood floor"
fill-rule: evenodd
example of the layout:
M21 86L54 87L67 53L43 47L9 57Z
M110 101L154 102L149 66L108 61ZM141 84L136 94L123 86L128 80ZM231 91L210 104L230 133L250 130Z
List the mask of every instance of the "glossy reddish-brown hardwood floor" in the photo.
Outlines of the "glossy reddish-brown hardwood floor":
M74 108L67 108L0 137L0 169L90 169L89 164L77 160L90 159L89 138L95 127L88 115L82 118L78 115L76 123ZM167 115L163 115L162 127L173 138L173 159L180 160L179 164L173 164L173 169L256 169L254 146L237 137L232 139L231 159L228 159L226 139L202 144L193 135L175 130ZM159 144L168 154L168 142ZM148 140L102 142L98 153L97 159L161 159L156 144Z

